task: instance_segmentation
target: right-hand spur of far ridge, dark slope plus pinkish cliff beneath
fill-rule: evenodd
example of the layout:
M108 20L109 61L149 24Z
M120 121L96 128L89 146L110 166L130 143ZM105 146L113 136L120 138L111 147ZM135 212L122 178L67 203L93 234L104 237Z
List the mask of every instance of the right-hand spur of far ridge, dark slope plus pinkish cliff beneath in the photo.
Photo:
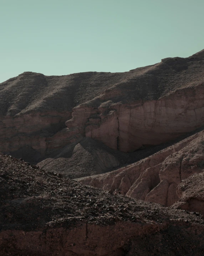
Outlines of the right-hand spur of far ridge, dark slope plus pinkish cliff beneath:
M75 135L131 152L157 145L204 124L203 59L167 58L73 109L65 124ZM178 68L179 67L179 68ZM130 75L129 75L130 76ZM73 134L72 134L73 135Z

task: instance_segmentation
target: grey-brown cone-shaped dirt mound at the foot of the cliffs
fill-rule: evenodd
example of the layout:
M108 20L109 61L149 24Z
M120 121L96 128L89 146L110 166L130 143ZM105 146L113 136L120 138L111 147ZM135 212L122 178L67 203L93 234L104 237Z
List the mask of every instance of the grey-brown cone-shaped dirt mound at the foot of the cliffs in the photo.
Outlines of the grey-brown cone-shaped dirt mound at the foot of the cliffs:
M100 141L84 138L79 143L54 151L38 165L66 178L78 178L106 173L125 164L128 159L127 154L110 149Z

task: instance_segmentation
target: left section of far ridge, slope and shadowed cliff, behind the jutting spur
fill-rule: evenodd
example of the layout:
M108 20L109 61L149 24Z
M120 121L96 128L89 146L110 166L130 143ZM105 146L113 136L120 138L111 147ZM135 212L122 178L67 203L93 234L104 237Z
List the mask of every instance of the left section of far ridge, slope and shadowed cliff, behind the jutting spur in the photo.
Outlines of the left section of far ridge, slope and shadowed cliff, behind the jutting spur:
M109 87L107 81L119 81L121 76L24 72L0 83L0 151L37 163L52 149L72 143L70 133L63 130L72 108L100 95Z

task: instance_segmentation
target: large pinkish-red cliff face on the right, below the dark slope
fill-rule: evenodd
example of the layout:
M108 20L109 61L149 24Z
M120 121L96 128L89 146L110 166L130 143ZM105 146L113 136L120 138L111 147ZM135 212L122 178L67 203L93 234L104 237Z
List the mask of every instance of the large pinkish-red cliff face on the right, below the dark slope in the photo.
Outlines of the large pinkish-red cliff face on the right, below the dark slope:
M113 103L106 94L82 104L65 124L70 132L131 152L158 145L204 125L204 86L175 91L156 101ZM107 100L103 102L104 100ZM98 108L95 102L102 102ZM74 134L72 133L72 136Z

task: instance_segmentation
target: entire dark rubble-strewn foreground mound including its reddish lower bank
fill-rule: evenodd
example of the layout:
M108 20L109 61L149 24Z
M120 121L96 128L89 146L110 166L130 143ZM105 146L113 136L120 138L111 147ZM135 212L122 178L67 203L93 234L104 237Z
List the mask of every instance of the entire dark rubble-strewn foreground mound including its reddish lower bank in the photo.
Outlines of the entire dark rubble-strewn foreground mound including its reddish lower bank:
M0 154L0 255L203 255L199 213L112 195Z

